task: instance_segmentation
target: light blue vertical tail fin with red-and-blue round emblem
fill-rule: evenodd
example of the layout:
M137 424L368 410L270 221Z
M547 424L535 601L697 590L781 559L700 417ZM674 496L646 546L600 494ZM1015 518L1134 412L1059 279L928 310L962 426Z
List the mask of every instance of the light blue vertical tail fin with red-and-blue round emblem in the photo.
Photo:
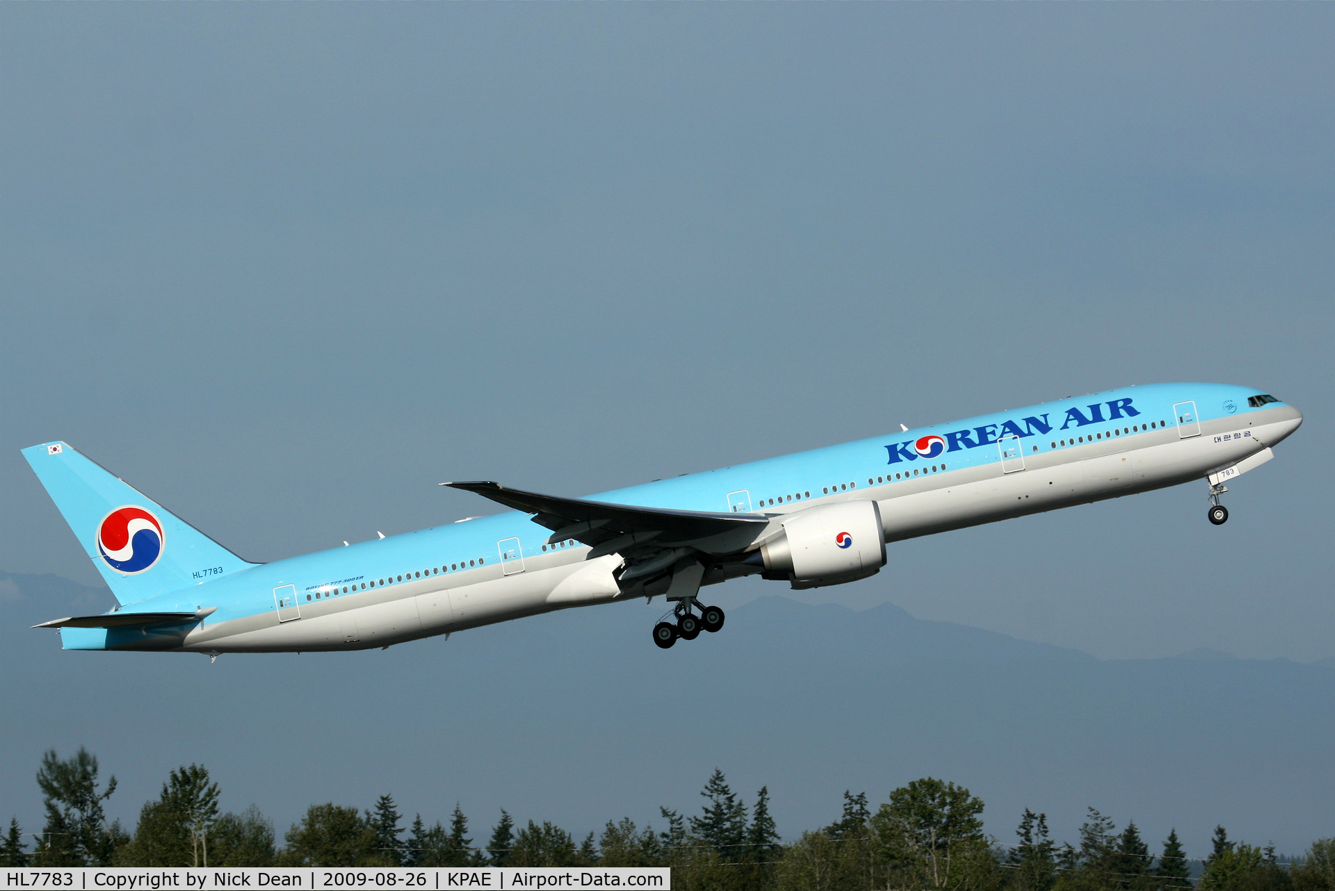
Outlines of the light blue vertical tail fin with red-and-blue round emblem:
M65 443L32 446L23 456L120 603L255 566Z

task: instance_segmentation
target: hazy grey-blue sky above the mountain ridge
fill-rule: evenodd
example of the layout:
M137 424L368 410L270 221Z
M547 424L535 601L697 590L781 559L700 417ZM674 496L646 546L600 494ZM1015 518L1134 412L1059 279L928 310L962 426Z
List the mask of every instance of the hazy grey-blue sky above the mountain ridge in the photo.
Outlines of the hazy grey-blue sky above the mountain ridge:
M1335 655L1332 44L1332 4L5 4L0 567L96 580L48 439L272 560L490 512L446 479L1223 380L1307 417L1226 527L1200 483L810 599Z

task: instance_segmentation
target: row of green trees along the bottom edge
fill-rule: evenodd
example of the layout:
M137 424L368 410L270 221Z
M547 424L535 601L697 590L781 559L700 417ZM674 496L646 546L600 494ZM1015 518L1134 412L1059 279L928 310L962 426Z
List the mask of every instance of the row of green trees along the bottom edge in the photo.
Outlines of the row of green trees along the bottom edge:
M674 887L718 891L1335 891L1335 839L1302 858L1279 858L1215 830L1208 858L1191 859L1176 830L1152 854L1135 822L1123 828L1095 808L1079 844L1057 843L1047 816L1025 810L1013 843L983 831L983 800L924 778L874 810L844 792L834 823L782 842L762 787L748 807L714 770L700 814L659 808L662 828L607 820L575 840L551 822L518 826L505 810L485 840L455 806L447 823L421 814L405 827L391 795L368 810L312 804L279 844L254 806L219 812L218 783L199 764L179 767L146 802L134 831L108 822L115 776L99 779L83 748L47 752L37 770L45 824L24 835L17 818L0 840L0 866L668 866Z

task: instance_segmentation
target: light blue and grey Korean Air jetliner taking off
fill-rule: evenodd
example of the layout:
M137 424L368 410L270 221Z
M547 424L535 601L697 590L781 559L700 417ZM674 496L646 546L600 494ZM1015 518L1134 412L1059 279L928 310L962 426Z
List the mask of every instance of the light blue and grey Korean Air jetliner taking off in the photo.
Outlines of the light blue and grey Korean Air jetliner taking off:
M885 546L1192 483L1268 462L1302 413L1226 384L1152 384L562 498L441 483L510 511L274 563L247 563L65 443L23 451L116 596L71 616L65 650L364 650L539 612L666 595L672 647L718 631L701 590L876 575Z

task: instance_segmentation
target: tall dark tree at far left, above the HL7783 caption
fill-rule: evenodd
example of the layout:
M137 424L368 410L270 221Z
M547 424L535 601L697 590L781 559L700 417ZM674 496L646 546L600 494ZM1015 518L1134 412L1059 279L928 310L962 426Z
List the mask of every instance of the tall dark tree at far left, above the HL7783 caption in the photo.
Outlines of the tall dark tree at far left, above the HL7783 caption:
M44 796L47 824L33 851L35 866L108 866L125 834L107 823L103 802L116 791L116 778L97 788L97 759L83 747L60 760L51 750L41 756L37 787Z

